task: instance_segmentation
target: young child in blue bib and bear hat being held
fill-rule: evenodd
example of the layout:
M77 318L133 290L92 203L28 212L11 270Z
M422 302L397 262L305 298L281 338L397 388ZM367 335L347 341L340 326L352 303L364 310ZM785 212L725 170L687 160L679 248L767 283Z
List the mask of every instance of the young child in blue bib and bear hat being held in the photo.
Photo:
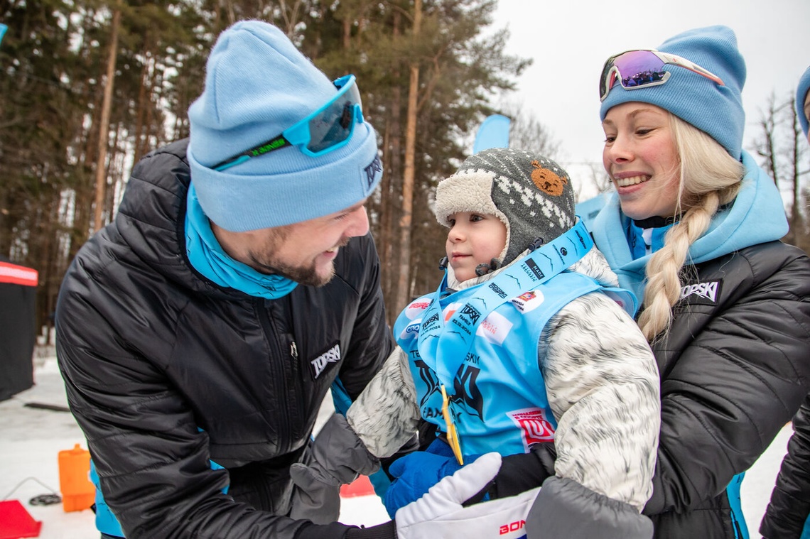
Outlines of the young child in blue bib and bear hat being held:
M462 461L553 440L555 475L538 502L556 492L544 503L561 517L651 537L639 513L652 492L658 371L635 299L616 288L573 208L567 173L527 151L482 151L438 185L445 276L399 315L399 347L346 417L378 457L420 417L436 427L427 451L390 467L392 516Z

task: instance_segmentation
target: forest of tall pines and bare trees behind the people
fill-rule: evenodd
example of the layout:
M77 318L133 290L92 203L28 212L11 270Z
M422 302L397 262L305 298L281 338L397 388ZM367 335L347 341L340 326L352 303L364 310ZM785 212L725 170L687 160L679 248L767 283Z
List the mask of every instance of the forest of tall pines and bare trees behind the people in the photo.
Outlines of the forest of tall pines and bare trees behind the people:
M70 261L109 223L134 161L188 136L216 36L240 19L275 23L330 78L353 73L377 129L382 185L369 219L389 321L435 288L446 229L437 182L471 151L488 114L513 118L510 146L559 159L548 129L509 100L531 59L505 53L497 0L0 0L0 257L39 271L38 327L53 324ZM761 166L810 250L810 172L792 100L773 98L758 124ZM565 162L561 161L565 166ZM608 189L594 167L581 193ZM47 337L46 337L47 338Z

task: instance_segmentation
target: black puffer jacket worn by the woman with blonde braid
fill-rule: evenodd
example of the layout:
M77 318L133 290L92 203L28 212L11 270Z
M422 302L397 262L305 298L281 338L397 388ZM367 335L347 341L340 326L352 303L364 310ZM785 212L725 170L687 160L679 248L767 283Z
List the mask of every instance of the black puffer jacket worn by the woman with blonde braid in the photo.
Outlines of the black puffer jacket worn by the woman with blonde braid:
M726 486L810 388L810 259L774 241L689 266L683 280L653 346L661 437L644 513L659 539L733 538Z

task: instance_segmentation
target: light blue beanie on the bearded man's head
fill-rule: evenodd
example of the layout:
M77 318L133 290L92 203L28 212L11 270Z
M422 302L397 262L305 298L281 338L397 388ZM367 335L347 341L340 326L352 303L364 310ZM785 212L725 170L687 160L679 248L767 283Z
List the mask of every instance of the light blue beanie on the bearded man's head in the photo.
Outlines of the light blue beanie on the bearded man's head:
M382 166L368 122L320 157L291 146L224 171L210 167L281 134L335 96L335 85L269 23L241 21L222 34L203 94L189 108L191 182L203 212L229 231L279 227L353 206Z

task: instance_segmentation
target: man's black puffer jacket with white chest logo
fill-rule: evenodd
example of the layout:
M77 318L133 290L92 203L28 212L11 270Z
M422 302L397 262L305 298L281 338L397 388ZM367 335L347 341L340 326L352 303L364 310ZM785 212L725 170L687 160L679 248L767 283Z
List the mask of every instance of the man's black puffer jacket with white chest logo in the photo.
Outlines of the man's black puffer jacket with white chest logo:
M390 353L373 241L282 299L216 286L185 255L186 143L136 164L59 295L59 366L104 498L128 539L343 537L277 515L335 376L356 397Z

